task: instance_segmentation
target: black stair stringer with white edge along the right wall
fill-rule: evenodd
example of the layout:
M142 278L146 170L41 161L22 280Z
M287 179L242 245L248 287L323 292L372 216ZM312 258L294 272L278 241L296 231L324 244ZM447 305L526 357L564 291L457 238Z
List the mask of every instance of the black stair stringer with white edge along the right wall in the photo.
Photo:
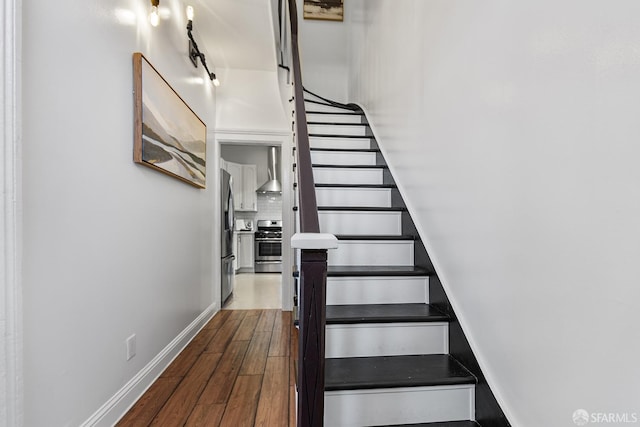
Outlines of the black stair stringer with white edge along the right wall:
M372 134L372 148L380 150L377 164L386 165L385 175L383 177L384 184L396 184L396 188L392 192L391 206L403 207L406 210L402 215L402 234L415 236L415 265L424 268L429 273L429 301L436 308L448 314L451 317L449 322L449 354L462 363L473 375L476 376L478 382L476 384L474 403L475 403L475 420L483 427L511 427L502 406L504 399L500 395L494 394L487 377L483 373L482 364L473 351L477 345L473 340L469 340L464 332L464 318L456 314L454 309L455 301L451 301L448 297L446 289L448 286L438 276L437 262L433 262L429 256L428 241L422 239L427 236L424 230L419 229L412 219L412 206L405 202L402 197L402 185L393 179L393 166L385 160L385 148L380 145L376 135L375 126L369 121L369 114L366 108L359 104L350 104L356 106L354 111L361 112L364 116L363 121L369 125ZM501 405L499 401L503 402Z

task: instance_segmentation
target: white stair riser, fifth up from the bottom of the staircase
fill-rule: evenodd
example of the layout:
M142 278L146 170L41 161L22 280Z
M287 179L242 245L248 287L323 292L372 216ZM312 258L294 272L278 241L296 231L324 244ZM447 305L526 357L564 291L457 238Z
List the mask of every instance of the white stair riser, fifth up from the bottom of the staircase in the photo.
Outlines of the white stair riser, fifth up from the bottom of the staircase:
M402 234L400 212L318 212L320 231L331 234Z

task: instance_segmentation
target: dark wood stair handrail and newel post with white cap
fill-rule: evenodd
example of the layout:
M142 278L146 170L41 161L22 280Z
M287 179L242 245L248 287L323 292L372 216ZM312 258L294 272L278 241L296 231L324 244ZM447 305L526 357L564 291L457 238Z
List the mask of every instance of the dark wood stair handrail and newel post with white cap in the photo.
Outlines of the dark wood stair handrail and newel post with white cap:
M322 427L324 424L324 359L326 325L327 250L338 247L332 234L320 233L318 205L309 145L304 87L298 47L296 0L281 5L281 60L287 57L293 74L293 133L297 175L297 214L299 229L291 239L298 252L299 351L298 351L298 427ZM284 12L284 13L282 13ZM286 22L288 16L289 22ZM288 29L289 32L282 28ZM283 35L285 35L283 37ZM288 37L286 37L288 36ZM296 198L294 197L294 200ZM296 208L294 208L296 210Z

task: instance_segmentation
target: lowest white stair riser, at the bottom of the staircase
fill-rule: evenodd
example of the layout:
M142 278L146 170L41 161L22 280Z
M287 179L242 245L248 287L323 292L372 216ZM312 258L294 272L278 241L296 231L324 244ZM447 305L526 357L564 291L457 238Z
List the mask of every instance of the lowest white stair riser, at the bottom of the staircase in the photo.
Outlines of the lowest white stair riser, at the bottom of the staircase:
M324 425L355 427L475 419L473 385L325 392Z

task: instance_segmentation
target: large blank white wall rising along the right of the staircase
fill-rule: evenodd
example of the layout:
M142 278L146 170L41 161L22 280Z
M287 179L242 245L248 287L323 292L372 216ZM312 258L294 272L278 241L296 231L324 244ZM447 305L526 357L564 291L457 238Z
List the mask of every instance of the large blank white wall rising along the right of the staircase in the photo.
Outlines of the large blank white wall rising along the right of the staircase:
M350 1L350 100L512 425L640 412L640 4Z

